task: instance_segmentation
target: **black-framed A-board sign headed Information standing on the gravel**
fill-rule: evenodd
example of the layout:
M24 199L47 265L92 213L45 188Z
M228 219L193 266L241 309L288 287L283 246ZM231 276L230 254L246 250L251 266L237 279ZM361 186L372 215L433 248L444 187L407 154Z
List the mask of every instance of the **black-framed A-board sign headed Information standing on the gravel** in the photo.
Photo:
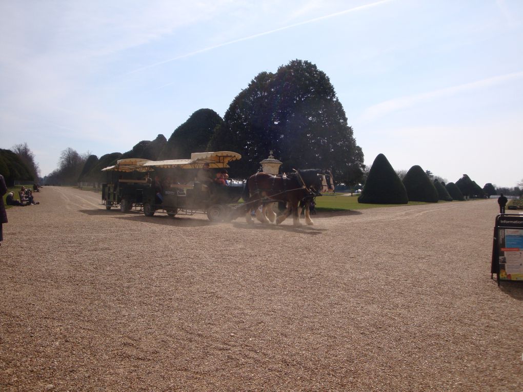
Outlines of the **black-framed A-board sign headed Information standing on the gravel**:
M494 227L491 278L523 281L523 215L499 214Z

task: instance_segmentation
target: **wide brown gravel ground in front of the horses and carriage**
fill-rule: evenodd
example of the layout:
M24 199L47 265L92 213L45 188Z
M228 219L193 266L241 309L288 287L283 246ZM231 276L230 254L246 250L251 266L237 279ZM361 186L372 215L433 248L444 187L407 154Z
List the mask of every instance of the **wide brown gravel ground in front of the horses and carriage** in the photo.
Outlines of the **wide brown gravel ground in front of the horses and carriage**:
M523 390L523 284L491 280L495 200L314 226L7 211L2 391Z

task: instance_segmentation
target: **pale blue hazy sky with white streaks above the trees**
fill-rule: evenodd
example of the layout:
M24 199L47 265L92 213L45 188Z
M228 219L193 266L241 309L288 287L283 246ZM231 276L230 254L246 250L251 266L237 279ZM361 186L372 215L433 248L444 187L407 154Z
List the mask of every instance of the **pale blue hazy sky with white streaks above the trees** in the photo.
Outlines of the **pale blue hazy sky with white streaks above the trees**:
M329 77L366 165L523 179L520 0L0 0L0 148L27 142L42 176L68 147L123 153L294 59Z

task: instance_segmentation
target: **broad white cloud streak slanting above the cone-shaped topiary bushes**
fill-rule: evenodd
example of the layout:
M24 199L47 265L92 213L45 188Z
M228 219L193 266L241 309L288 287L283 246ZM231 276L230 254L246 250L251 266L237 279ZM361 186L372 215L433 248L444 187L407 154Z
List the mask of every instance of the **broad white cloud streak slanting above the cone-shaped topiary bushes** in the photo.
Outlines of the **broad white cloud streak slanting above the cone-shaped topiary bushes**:
M523 71L498 75L482 80L477 80L476 82L461 84L458 86L428 91L427 93L394 98L367 108L361 114L361 120L365 122L376 120L380 117L386 116L387 114L413 107L415 105L418 105L419 103L423 103L431 99L451 97L453 95L463 93L464 91L491 87L507 82L508 80L519 79L521 77L523 77Z

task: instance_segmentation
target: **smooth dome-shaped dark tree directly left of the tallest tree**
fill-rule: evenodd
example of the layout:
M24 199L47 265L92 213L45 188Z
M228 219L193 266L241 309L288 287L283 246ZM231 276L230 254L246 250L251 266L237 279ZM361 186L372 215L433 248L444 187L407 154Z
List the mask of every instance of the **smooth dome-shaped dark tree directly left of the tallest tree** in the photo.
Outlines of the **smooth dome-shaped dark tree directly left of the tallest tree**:
M207 148L214 129L222 123L222 118L214 110L195 111L170 135L158 159L187 159L191 153L209 151Z

